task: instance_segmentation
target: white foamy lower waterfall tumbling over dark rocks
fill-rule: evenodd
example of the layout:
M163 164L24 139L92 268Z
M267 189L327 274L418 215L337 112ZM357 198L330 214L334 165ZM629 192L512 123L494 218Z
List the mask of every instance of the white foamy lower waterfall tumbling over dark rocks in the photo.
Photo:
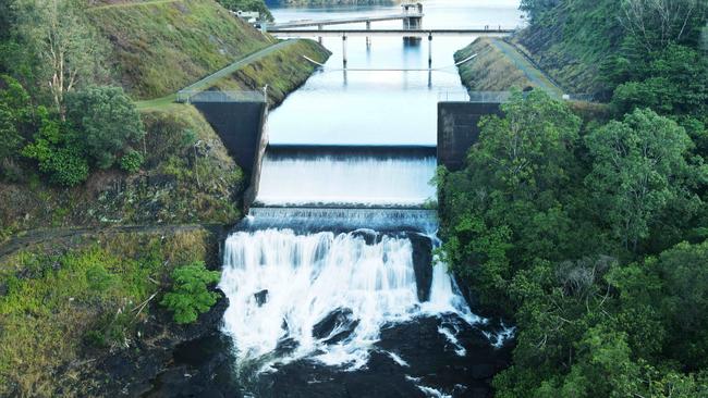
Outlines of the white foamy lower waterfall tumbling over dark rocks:
M295 234L290 229L239 232L225 241L219 287L229 298L223 332L232 336L243 362L267 363L312 357L329 365L357 369L387 323L417 315L459 313L479 319L464 302L444 268L436 265L431 301L416 294L413 246L405 237L383 236L367 245L361 234ZM267 290L259 304L256 294ZM462 300L462 301L461 301ZM353 332L337 344L326 340L352 326L339 324L321 338L313 326L337 310L351 311ZM279 343L292 339L294 351L270 358ZM402 360L403 361L403 360Z

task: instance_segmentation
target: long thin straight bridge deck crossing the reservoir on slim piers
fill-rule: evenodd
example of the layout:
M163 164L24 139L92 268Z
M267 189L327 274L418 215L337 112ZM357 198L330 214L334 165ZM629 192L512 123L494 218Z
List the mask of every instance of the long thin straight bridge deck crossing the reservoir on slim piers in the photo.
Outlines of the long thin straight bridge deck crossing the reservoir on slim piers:
M506 36L514 29L269 29L268 33L278 37L331 37L331 36Z

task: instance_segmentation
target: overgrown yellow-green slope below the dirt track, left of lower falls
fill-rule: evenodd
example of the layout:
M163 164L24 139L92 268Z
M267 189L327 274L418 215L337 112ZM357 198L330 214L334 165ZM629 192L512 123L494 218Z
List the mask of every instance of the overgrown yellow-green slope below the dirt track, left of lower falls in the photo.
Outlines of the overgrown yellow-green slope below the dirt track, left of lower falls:
M135 329L161 310L135 308L167 287L175 266L213 266L216 252L218 234L182 226L48 236L0 254L0 396L91 396L78 370L109 349L145 349Z

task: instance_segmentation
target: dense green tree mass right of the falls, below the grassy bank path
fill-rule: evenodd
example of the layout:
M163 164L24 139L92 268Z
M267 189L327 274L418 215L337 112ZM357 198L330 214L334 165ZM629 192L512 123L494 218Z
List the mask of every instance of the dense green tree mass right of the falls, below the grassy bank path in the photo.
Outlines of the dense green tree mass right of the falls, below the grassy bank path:
M498 394L706 394L708 169L685 129L648 109L583 125L540 90L502 110L439 176L443 254L518 327Z

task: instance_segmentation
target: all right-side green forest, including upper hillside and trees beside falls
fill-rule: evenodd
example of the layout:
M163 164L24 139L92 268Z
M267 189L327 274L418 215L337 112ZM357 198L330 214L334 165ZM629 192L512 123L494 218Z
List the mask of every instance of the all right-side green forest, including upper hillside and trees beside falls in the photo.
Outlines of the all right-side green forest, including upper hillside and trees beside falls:
M706 397L708 3L522 10L520 40L561 79L589 71L607 109L516 91L465 169L439 171L440 253L516 327L496 395Z

